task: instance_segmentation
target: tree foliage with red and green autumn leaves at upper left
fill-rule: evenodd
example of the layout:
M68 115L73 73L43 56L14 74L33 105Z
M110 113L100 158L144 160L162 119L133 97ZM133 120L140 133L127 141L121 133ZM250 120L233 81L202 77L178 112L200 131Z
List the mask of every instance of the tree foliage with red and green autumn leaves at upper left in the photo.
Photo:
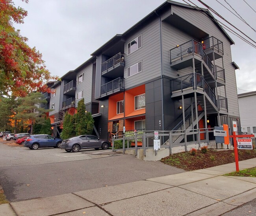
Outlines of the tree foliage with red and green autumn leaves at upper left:
M30 48L28 39L13 27L13 22L22 24L26 16L27 11L15 7L12 0L0 0L0 94L24 97L32 90L50 92L44 83L58 79L46 69L41 53Z

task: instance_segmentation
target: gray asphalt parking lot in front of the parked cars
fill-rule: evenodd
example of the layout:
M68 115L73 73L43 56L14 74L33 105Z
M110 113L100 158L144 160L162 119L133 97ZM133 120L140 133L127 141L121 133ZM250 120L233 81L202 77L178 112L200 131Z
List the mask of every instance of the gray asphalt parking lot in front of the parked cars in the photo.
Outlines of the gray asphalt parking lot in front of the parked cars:
M30 150L0 142L0 185L9 201L43 198L184 172L108 150Z

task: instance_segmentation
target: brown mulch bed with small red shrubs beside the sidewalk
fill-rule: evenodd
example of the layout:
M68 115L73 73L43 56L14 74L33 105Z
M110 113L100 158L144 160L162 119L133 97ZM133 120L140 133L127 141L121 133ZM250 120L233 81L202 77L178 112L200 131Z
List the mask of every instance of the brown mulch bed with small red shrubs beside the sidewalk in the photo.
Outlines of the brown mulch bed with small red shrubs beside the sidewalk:
M239 161L256 157L256 149L254 150L238 150ZM208 150L207 153L197 151L195 155L191 152L181 152L172 154L161 159L161 162L170 166L175 166L186 171L200 170L229 164L235 162L234 150Z

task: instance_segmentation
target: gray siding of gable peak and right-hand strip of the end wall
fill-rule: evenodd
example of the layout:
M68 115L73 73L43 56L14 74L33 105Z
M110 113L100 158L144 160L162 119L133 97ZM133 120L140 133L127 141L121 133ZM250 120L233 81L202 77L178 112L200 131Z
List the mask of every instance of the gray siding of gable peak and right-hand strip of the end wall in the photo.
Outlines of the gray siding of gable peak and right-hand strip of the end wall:
M236 75L232 66L230 42L216 24L208 17L195 9L185 9L179 6L172 6L172 12L187 20L197 28L205 31L210 36L214 36L223 42L223 63L226 77L226 94L228 98L228 113L232 116L239 116ZM221 65L220 65L221 66Z

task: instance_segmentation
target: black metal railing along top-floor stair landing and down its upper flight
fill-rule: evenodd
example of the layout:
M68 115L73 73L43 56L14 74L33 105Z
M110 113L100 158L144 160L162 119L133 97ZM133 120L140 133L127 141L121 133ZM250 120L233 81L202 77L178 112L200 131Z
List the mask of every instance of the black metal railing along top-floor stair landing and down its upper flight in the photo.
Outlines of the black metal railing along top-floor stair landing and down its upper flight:
M214 76L214 67L211 63L211 59L206 55L206 53L203 50L202 44L195 40L188 41L184 44L181 44L180 46L177 46L170 50L170 57L171 57L171 63L174 59L182 59L186 55L189 54L199 54L202 57L202 60L204 63L208 66L211 73Z

